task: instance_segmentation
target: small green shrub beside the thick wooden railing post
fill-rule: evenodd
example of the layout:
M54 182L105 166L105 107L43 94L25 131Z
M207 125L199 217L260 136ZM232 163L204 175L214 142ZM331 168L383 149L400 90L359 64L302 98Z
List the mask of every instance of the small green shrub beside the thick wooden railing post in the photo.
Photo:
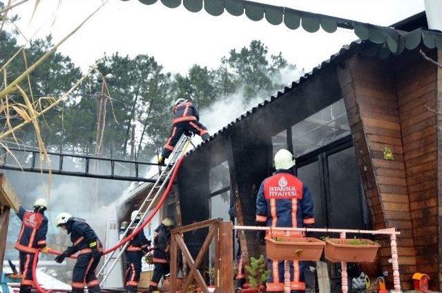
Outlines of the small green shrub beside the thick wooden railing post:
M250 265L246 265L245 270L249 278L249 283L244 284L242 292L265 292L265 281L269 278L270 272L267 270L267 264L264 256L260 258L250 258Z

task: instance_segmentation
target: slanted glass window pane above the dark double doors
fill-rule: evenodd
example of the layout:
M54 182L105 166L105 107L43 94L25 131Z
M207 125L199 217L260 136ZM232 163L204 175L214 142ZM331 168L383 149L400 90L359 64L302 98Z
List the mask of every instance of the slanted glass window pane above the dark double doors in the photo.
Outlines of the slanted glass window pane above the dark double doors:
M350 134L344 100L334 102L291 127L295 157Z

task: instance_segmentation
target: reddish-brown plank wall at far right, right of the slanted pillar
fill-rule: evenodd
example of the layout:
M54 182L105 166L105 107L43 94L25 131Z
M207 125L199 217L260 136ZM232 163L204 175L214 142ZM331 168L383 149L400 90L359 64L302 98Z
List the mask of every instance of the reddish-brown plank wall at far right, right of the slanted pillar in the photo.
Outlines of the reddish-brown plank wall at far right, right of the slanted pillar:
M439 290L436 115L427 108L436 108L437 70L417 51L398 57L394 68L416 270L428 274L431 289Z

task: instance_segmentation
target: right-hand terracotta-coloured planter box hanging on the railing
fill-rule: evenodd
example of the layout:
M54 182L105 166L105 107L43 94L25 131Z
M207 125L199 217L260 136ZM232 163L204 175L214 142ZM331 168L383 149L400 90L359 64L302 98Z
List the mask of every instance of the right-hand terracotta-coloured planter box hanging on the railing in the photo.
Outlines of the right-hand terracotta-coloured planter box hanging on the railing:
M325 240L325 258L334 263L346 261L349 263L372 263L381 245L372 240L357 239L367 242L363 245L349 244L355 239L327 239Z

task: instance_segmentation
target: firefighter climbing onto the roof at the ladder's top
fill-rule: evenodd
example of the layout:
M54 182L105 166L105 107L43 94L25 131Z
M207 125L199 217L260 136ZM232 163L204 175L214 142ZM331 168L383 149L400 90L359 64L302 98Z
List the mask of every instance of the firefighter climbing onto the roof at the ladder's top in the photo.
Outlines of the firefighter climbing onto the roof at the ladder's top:
M164 144L160 157L158 157L158 164L164 164L164 160L169 158L181 135L189 132L198 133L204 141L210 138L206 127L200 123L200 114L196 107L191 101L180 98L175 101L171 135Z

